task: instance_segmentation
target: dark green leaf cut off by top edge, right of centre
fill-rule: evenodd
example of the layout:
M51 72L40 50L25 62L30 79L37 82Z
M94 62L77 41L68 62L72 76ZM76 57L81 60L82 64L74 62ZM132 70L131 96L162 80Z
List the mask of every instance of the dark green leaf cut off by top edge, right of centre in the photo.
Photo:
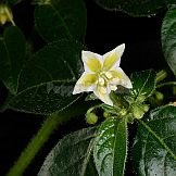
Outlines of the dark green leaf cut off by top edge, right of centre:
M96 0L104 9L125 12L131 16L155 15L175 0Z

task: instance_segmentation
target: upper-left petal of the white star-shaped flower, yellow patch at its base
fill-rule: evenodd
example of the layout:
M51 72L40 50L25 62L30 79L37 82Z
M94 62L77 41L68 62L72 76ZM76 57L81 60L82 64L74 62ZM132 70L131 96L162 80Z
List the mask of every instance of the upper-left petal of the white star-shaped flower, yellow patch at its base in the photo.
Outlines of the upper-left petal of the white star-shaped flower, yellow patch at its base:
M86 72L97 73L102 67L102 56L90 52L90 51L81 51L81 60L84 62Z

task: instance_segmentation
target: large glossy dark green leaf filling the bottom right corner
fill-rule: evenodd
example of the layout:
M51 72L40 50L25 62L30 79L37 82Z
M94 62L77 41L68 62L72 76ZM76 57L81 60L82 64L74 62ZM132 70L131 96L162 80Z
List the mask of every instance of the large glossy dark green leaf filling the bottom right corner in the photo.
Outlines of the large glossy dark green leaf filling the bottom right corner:
M176 108L159 108L139 122L133 152L137 175L176 175Z

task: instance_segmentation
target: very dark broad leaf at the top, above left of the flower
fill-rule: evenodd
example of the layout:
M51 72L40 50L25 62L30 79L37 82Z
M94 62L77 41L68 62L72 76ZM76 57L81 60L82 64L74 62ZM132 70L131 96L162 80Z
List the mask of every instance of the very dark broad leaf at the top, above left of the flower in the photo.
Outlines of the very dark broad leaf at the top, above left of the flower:
M83 0L51 0L35 10L38 33L47 41L61 38L84 40L86 5Z

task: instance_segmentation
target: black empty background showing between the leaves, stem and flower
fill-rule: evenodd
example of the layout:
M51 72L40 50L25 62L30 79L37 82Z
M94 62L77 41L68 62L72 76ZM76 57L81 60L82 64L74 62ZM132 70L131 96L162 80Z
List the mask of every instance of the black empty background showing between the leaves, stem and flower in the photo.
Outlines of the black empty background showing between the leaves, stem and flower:
M162 68L166 63L161 50L161 24L165 12L154 17L134 18L121 12L110 12L98 7L92 0L86 0L87 5L87 48L103 54L121 43L126 43L121 67L130 75L134 71ZM33 30L34 7L24 1L14 7L14 21L29 38ZM34 38L37 40L36 38ZM40 42L38 43L40 46ZM0 98L3 101L7 91L1 83ZM85 117L77 117L70 124L61 126L38 153L33 164L26 169L25 176L37 175L47 153L65 134L86 127ZM0 176L12 166L21 151L26 147L34 134L42 124L45 117L13 111L0 113ZM135 135L135 126L129 126L129 146ZM130 148L129 148L130 154ZM126 175L135 175L129 161Z

